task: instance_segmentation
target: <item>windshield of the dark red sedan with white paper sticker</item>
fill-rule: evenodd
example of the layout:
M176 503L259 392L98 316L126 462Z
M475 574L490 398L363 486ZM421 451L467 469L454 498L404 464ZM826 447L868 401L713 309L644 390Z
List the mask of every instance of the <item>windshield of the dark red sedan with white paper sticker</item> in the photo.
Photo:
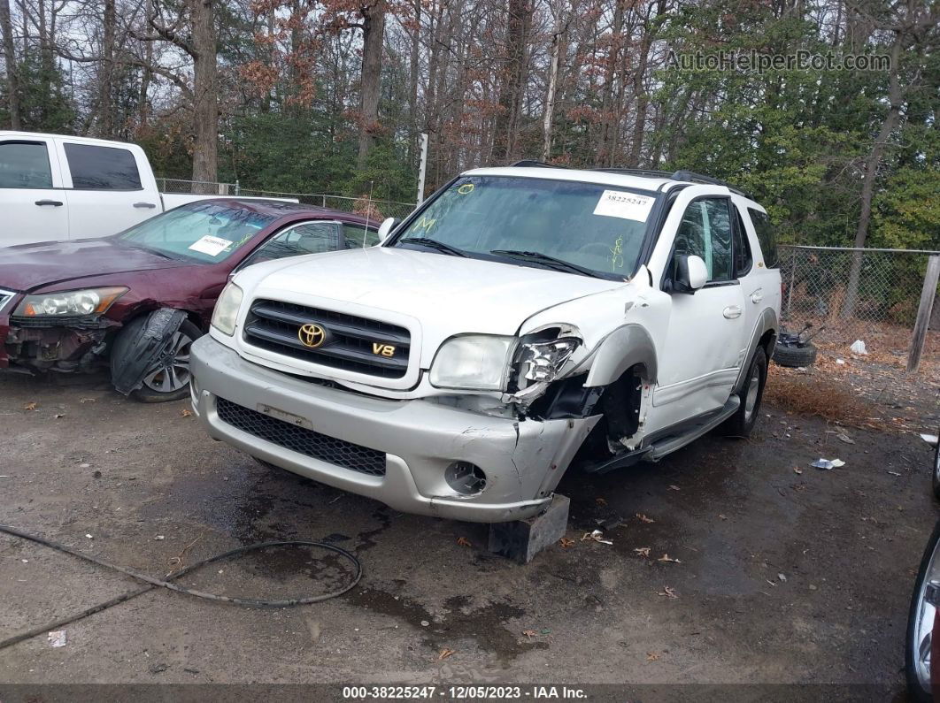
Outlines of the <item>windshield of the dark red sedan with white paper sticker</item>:
M214 264L225 261L273 221L271 215L238 207L193 203L134 225L118 238L172 258Z

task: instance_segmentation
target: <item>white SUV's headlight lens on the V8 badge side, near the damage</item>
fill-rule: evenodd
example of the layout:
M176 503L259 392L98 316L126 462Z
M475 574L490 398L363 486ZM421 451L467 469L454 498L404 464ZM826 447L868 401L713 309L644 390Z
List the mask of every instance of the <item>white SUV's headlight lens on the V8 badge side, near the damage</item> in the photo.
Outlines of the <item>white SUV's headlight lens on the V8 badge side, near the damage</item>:
M431 364L431 385L461 390L503 390L514 337L467 334L451 337Z

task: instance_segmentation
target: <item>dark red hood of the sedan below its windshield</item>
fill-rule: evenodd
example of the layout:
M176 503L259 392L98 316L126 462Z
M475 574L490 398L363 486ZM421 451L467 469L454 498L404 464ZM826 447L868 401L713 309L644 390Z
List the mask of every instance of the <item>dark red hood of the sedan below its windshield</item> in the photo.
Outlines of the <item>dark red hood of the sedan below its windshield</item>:
M0 249L0 288L30 291L88 276L188 265L116 237L21 244Z

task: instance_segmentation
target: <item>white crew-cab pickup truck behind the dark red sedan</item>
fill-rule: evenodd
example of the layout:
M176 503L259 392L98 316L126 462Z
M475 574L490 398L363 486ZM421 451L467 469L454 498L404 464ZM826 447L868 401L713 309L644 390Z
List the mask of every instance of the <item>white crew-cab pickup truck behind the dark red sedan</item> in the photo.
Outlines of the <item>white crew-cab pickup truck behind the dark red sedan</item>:
M218 194L161 193L137 145L0 131L0 247L107 237Z

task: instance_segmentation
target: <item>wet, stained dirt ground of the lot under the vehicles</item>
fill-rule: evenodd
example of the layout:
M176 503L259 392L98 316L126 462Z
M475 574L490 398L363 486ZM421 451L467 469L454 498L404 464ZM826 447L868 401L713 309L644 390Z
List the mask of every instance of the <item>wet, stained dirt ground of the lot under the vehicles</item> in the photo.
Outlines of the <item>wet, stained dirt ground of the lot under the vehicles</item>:
M93 379L0 376L0 523L157 576L174 558L327 539L362 560L361 584L279 610L158 589L69 625L65 647L39 636L0 651L0 681L804 682L902 693L906 609L937 517L929 448L912 432L851 428L848 444L825 420L765 406L749 441L709 436L657 466L589 481L572 471L561 486L572 546L520 567L487 554L484 527L259 466L208 440L187 406L134 404ZM821 455L846 465L810 467ZM615 515L613 545L582 541ZM636 551L647 547L648 557ZM285 550L184 581L285 597L335 587L341 568ZM0 536L0 639L133 588Z

